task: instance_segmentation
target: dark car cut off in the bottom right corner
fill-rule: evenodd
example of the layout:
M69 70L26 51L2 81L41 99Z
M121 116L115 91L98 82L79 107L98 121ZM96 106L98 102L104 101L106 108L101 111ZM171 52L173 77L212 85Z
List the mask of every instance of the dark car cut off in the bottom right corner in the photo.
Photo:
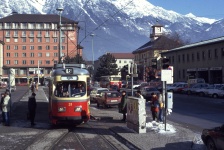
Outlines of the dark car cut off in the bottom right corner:
M213 129L204 129L201 139L208 150L224 150L224 124Z

